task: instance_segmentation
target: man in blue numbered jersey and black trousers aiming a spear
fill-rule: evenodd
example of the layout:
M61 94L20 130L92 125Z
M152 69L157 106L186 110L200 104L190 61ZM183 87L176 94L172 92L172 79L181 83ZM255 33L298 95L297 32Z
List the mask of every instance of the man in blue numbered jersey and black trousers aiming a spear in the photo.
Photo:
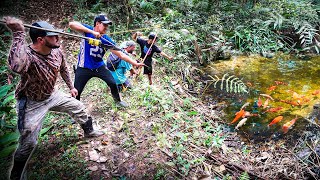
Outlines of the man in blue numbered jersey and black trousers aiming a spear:
M98 38L101 40L101 44L103 44L104 46L115 47L115 42L108 35L106 35L106 31L109 25L112 25L112 21L110 21L105 15L96 16L94 19L93 27L75 21L69 23L69 27L72 30L83 33L85 37ZM110 87L111 94L115 102L120 106L127 107L128 105L125 102L121 101L115 80L113 79L108 69L105 67L103 56L106 53L106 50L107 49L101 46L90 45L89 42L85 39L81 41L80 52L78 55L78 66L75 72L74 81L74 87L78 90L78 96L76 98L80 100L80 95L87 82L92 77L98 77L106 82ZM124 54L122 51L117 50L116 48L111 48L110 51L116 54L121 59L135 66L143 66L143 63L137 63L128 55Z

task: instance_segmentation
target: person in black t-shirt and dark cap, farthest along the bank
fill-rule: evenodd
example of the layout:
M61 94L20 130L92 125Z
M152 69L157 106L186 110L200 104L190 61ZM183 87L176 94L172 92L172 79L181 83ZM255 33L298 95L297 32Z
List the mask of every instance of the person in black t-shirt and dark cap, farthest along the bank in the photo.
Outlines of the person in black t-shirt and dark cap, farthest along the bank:
M160 55L164 56L165 58L172 60L173 57L172 56L168 56L166 53L164 53L163 51L161 51L158 46L155 45L158 37L155 33L150 33L148 40L144 40L142 38L140 38L139 36L141 36L142 33L140 32L136 32L132 35L132 39L137 41L137 43L140 45L140 50L141 50L141 59L144 59L144 64L146 65L146 67L143 68L143 74L147 74L148 75L148 79L149 79L149 84L152 85L152 56L153 54L156 53L160 53ZM152 47L151 47L152 45ZM147 54L147 55L146 55Z

